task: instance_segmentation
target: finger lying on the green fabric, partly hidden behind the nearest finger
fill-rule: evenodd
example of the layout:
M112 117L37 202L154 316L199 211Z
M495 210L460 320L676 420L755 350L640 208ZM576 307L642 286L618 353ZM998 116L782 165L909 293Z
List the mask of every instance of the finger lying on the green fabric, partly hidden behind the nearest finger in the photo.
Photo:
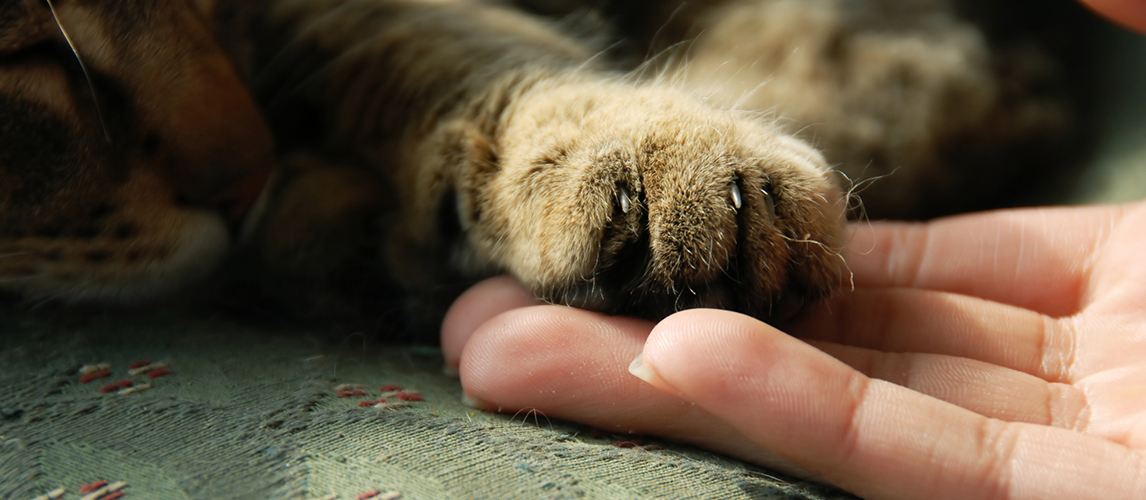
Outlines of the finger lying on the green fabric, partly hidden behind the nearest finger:
M480 408L535 409L551 419L662 436L808 476L696 406L629 375L629 362L651 328L641 320L563 306L510 311L470 337L462 386Z

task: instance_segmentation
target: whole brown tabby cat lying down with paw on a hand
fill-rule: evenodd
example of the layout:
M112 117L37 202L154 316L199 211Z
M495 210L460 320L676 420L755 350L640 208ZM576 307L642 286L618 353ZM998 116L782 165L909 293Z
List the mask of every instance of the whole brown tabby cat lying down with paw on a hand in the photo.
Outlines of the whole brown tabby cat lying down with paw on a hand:
M366 261L415 298L509 273L607 313L783 320L848 281L834 167L857 134L926 171L1000 110L1034 110L1019 139L1061 127L1057 102L999 97L951 13L856 14L880 5L699 2L654 21L693 41L636 65L500 2L9 2L0 289L139 300L218 278L242 239L299 295Z

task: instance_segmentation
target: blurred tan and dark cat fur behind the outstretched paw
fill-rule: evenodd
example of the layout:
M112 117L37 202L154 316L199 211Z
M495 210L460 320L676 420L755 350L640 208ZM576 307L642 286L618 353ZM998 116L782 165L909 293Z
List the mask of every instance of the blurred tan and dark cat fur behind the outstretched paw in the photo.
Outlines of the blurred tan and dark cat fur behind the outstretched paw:
M767 110L847 177L861 195L851 200L857 218L918 220L1018 203L1067 166L1075 130L1067 76L1086 77L1051 56L1055 47L1078 54L1085 40L1078 26L1061 29L1086 17L1069 2L517 3L571 19L599 13L619 26L614 52L629 68L651 67L724 106Z

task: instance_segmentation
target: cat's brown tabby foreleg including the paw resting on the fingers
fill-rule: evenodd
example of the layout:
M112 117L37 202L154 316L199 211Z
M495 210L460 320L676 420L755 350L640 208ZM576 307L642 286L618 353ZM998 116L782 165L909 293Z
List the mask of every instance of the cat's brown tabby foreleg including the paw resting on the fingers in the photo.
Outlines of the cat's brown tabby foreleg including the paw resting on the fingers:
M270 13L293 34L262 75L270 116L325 110L322 148L383 172L400 211L385 257L409 289L508 272L545 300L607 312L767 317L841 279L826 164L752 114L626 81L500 6Z

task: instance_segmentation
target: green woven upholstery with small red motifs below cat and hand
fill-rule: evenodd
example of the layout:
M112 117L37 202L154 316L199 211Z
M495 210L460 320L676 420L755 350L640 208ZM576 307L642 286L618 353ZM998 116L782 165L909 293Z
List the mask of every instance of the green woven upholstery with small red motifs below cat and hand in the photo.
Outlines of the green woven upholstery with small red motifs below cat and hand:
M129 377L147 391L99 391L141 359L171 373ZM99 362L113 374L80 383L78 369ZM438 350L361 335L7 311L0 367L0 499L56 487L76 499L96 479L127 482L127 499L848 498L694 448L477 412ZM342 383L424 400L359 407L366 398L335 394ZM646 446L613 445L628 439Z

